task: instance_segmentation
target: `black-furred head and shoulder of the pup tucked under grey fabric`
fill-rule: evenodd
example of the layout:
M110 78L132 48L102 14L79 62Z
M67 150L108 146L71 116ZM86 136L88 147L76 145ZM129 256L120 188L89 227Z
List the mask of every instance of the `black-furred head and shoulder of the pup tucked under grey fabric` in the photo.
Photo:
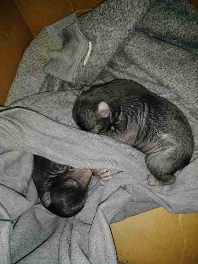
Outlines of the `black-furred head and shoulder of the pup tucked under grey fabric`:
M61 217L79 213L87 198L89 180L78 176L81 169L72 172L70 169L70 166L34 155L32 179L38 196L47 210Z

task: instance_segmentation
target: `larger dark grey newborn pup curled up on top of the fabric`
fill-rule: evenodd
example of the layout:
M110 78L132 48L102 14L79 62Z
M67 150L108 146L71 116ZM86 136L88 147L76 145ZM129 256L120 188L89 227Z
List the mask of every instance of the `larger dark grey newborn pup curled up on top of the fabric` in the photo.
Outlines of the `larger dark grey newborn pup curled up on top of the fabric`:
M159 185L174 183L174 173L189 163L193 152L192 130L177 106L125 79L80 94L73 107L80 128L139 149ZM101 102L108 104L108 116L100 110Z

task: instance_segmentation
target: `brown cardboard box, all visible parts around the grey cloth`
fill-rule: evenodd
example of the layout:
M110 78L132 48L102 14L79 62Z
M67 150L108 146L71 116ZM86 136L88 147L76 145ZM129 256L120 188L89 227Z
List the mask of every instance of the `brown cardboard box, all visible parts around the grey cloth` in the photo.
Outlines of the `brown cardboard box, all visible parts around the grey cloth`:
M102 0L2 0L0 3L0 105L22 54L41 28ZM198 0L191 1L198 6ZM173 215L164 208L111 225L118 259L133 264L198 264L198 214Z

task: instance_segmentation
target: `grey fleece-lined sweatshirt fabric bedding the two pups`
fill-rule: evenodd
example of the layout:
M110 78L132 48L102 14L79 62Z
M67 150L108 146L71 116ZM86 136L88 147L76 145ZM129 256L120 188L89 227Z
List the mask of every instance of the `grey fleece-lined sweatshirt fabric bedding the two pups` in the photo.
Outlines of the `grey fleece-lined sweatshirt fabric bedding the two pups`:
M44 28L24 52L0 112L0 263L117 263L110 223L163 206L198 212L198 14L187 1L107 0ZM79 89L135 80L176 104L192 127L192 162L170 186L148 186L144 154L81 131ZM45 210L31 179L33 154L115 173L89 185L84 209Z

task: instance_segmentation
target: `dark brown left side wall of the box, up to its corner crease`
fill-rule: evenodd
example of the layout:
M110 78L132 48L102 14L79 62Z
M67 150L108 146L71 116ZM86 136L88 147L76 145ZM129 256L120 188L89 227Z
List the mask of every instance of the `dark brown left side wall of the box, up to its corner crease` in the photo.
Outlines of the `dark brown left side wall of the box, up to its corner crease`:
M0 2L0 17L0 105L2 105L22 54L33 36L13 0Z

